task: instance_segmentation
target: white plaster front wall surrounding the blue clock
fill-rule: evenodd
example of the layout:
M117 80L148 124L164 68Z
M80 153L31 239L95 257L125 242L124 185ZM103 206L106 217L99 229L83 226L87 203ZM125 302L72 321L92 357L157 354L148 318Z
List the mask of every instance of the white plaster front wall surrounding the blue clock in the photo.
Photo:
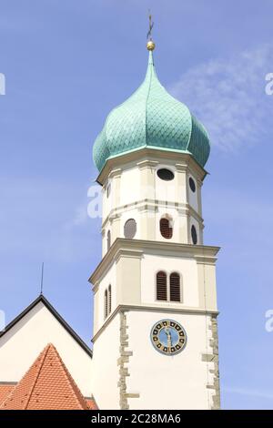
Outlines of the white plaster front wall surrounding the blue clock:
M175 356L163 355L150 341L153 325L162 319L180 322L187 332L186 348ZM211 352L210 331L205 315L167 312L127 312L129 358L127 392L139 393L128 399L130 409L208 409L212 392L207 379L213 382L211 362L202 362L201 354ZM208 376L208 378L207 378Z

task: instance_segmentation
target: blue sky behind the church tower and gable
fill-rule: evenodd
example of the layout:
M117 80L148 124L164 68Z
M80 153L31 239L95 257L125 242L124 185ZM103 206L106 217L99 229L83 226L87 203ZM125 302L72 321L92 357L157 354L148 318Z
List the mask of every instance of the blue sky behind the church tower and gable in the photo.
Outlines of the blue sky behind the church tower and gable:
M90 343L87 283L101 255L89 219L91 148L106 114L147 67L154 15L161 83L212 140L205 243L217 263L222 404L273 408L273 73L270 0L0 0L0 309L10 321L39 291Z

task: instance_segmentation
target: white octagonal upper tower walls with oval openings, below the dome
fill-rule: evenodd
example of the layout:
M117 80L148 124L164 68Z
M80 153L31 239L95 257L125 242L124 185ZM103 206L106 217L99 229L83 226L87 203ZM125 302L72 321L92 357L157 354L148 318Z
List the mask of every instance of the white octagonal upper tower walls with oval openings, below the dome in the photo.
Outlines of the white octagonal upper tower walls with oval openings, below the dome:
M168 168L173 171L174 179L165 181L157 177L157 170L160 168ZM197 178L192 173L177 170L175 165L159 164L157 168L139 168L137 165L128 168L128 166L121 166L120 178L111 178L107 180L103 190L103 219L106 219L112 209L118 209L117 215L119 219L114 221L107 221L104 225L105 235L103 238L103 255L106 254L106 237L107 231L111 231L111 242L113 243L116 237L124 238L124 224L126 219L136 219L137 232L136 239L156 239L166 240L161 236L159 229L159 220L168 214L173 219L173 237L168 239L173 242L191 243L188 242L187 229L189 228L187 213L185 208L171 206L172 204L189 204L197 213L201 214L200 207L198 207L198 192L199 185ZM147 179L148 174L148 179ZM151 175L153 177L151 178ZM191 177L196 183L196 192L193 193L189 189L188 178ZM147 189L147 185L143 183L150 183L151 189ZM109 197L106 197L106 189L108 183L111 184L111 192ZM118 195L116 195L116 193ZM154 200L159 206L157 209L150 208L145 210L135 209L135 202L140 200L149 199L149 203ZM149 220L147 219L149 218ZM148 227L145 227L145 220L147 219ZM116 225L117 229L116 229ZM115 228L115 230L114 230ZM150 230L153 229L152 234ZM198 242L202 241L202 234L200 234L199 225L197 223ZM115 232L115 233L114 233ZM117 235L116 235L117 233ZM115 235L115 236L114 236Z

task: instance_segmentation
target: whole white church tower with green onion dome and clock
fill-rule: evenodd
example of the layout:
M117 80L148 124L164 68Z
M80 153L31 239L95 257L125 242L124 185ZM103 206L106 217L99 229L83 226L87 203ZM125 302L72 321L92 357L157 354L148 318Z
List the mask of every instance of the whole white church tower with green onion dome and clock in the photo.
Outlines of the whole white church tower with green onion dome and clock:
M218 409L217 247L203 244L205 128L147 75L106 118L94 161L102 260L94 285L99 409Z

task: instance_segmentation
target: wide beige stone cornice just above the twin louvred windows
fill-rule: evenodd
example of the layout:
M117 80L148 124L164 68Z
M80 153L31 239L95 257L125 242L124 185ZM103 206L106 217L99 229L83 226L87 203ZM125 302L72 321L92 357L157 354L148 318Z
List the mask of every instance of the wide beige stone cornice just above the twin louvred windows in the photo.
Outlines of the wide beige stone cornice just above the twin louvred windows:
M136 257L136 254L141 257L142 253L155 253L162 254L164 256L173 257L187 257L196 259L197 263L210 263L215 264L217 260L217 252L219 247L211 247L204 245L190 245L180 244L176 242L165 242L157 240L145 240L145 239L125 239L117 238L110 250L106 252L103 260L98 264L96 270L92 273L89 278L89 282L96 284L101 277L104 275L109 266L119 259L122 253L131 253L130 257ZM135 254L134 254L135 252Z

